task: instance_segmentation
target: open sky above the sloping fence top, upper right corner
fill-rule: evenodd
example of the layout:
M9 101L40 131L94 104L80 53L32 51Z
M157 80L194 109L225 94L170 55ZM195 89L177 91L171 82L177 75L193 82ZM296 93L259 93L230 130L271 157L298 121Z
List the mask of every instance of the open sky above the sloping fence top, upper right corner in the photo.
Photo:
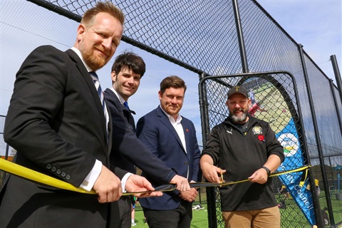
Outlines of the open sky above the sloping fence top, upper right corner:
M264 9L290 34L318 64L328 78L333 74L330 56L341 61L341 0L259 0Z

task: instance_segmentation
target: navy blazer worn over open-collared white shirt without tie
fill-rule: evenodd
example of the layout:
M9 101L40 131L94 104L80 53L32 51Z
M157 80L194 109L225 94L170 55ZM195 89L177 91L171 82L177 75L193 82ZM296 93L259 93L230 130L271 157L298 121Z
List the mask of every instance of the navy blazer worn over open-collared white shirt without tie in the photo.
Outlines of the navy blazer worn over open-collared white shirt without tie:
M197 144L195 126L183 116L181 123L187 152L185 152L175 128L160 106L140 118L137 123L137 135L152 153L165 162L165 165L175 170L177 175L187 177L189 170L188 180L199 182L202 179L202 172L199 169L200 150ZM150 180L152 185L160 185L160 182L153 180L146 172L142 172L142 175L147 177L147 180ZM148 209L175 209L179 207L181 200L178 193L177 190L164 192L162 197L141 198L139 202L142 207Z

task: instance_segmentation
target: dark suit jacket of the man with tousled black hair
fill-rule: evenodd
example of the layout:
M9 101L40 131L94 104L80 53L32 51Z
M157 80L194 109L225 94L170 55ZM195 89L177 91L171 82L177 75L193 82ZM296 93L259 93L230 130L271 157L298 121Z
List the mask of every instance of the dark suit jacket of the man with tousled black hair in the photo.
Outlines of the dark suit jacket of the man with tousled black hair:
M113 145L110 153L110 162L115 164L118 157L124 157L141 170L147 172L152 179L160 184L169 183L176 175L175 171L167 167L157 156L147 149L145 144L138 140L132 132L130 124L123 113L125 108L113 91L105 90L105 102L110 110L113 123Z

